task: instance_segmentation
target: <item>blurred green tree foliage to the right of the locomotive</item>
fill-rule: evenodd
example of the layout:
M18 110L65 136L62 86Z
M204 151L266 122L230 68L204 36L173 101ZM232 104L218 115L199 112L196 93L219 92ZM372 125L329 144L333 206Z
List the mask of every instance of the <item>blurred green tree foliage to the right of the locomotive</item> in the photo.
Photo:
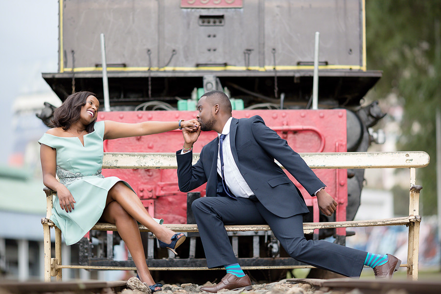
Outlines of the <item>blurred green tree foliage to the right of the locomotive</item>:
M437 212L435 113L441 109L441 0L367 0L368 69L382 70L377 99L397 97L404 109L398 150L423 150L418 170L424 215ZM441 184L441 183L440 183Z

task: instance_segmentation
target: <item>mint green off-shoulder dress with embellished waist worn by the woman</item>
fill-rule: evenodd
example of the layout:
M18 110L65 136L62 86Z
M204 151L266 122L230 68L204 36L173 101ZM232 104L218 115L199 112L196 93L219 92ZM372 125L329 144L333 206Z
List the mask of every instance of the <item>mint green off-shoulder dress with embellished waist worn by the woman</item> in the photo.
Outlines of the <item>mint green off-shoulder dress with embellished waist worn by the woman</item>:
M61 229L66 245L77 243L102 215L107 193L119 181L116 176L101 174L104 122L95 123L95 131L84 135L84 146L77 137L57 137L44 134L38 141L55 148L56 173L75 199L74 209L61 209L58 196L53 199L50 220ZM122 181L130 189L129 184ZM133 192L135 192L132 189ZM162 223L162 220L155 220Z

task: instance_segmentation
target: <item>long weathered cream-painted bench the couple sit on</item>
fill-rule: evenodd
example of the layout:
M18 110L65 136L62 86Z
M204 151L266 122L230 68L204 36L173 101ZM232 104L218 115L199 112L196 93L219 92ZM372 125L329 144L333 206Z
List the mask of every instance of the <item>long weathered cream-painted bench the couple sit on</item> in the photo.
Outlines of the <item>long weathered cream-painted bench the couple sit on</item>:
M429 155L423 151L401 152L344 152L344 153L301 153L301 157L312 169L383 169L383 168L406 168L409 169L409 216L382 220L364 221L338 221L338 222L311 222L304 223L305 234L310 234L314 229L383 226L383 225L406 225L409 227L408 257L407 264L401 267L407 268L408 277L418 278L418 246L419 246L419 191L421 186L416 185L416 169L429 164ZM196 163L198 153L193 155L193 163ZM175 153L104 153L104 169L177 169ZM62 269L89 269L89 270L134 270L127 267L94 267L94 266L71 266L61 263L61 231L49 220L52 210L52 198L55 192L45 188L47 196L47 215L41 222L44 228L45 244L45 281L50 281L51 276L57 280L62 279ZM165 224L173 231L197 232L196 224ZM50 228L55 229L55 258L51 258ZM148 232L143 226L140 231ZM226 225L227 231L269 231L268 225ZM110 223L97 223L92 230L116 231L116 226ZM310 266L281 266L265 267L265 269L281 268L305 268ZM243 269L257 269L261 267L243 267ZM207 268L150 268L150 270L207 270Z

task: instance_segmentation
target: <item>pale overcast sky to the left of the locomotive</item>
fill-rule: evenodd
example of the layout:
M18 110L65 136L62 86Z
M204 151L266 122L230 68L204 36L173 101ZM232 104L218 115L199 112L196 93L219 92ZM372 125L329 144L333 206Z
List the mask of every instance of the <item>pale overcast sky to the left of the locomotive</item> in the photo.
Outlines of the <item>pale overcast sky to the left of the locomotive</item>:
M57 72L58 0L0 0L0 165L12 148L11 106L19 95L52 92Z

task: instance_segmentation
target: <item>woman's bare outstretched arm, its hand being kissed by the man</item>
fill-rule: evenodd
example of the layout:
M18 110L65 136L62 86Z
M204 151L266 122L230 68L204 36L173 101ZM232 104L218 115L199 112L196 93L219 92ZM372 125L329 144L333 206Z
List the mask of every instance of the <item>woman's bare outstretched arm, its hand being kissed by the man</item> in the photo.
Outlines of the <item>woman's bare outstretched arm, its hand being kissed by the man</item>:
M175 130L179 127L179 122L119 123L114 121L104 121L104 123L104 139L118 139L159 134ZM187 130L195 131L198 127L198 123L196 119L182 121L181 127L187 128Z

